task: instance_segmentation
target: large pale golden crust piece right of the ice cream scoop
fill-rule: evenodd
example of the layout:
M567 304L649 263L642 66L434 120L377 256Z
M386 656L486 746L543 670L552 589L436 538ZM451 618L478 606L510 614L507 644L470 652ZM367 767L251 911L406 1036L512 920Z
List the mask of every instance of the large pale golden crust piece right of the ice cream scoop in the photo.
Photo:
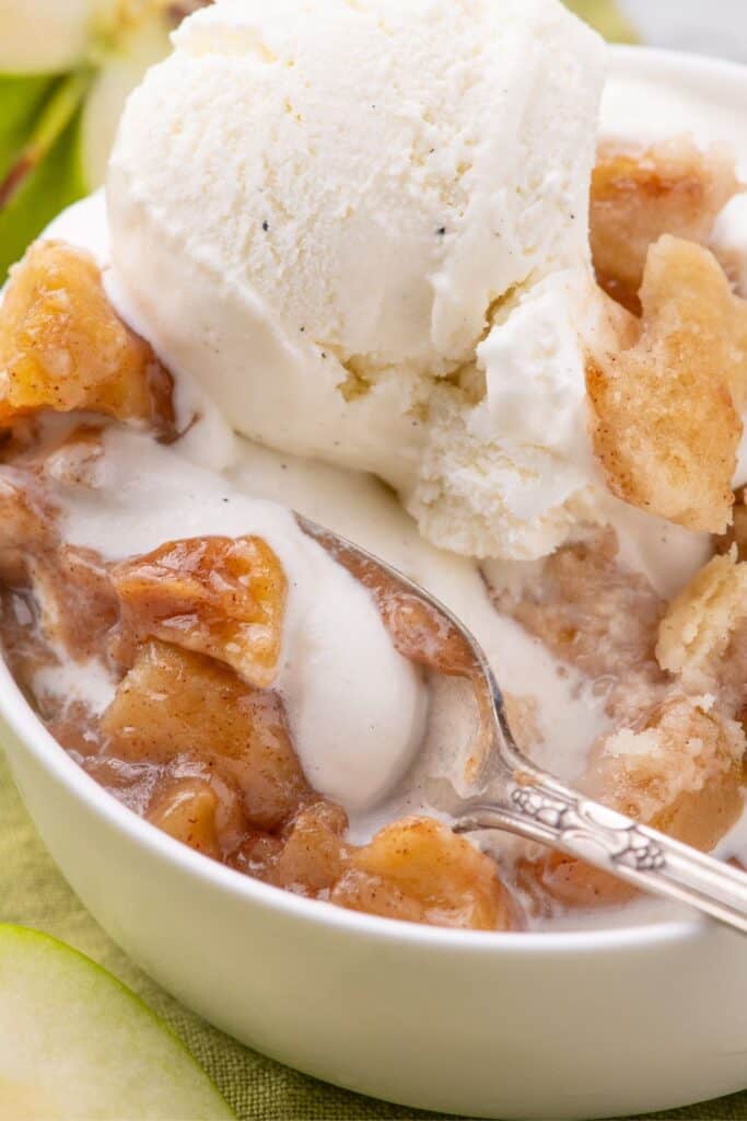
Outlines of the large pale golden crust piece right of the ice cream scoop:
M587 362L596 454L618 498L723 532L743 432L747 304L711 253L671 237L648 252L641 298L628 339Z

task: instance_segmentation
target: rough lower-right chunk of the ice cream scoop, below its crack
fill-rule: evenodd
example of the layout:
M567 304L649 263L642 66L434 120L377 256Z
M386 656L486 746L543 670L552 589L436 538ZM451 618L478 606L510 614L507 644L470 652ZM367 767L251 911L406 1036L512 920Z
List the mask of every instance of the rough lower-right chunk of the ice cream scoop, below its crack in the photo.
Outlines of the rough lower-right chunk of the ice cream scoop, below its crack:
M607 520L588 438L583 342L600 339L606 322L582 267L550 274L506 305L470 373L432 391L409 508L429 540L455 552L532 559L579 522Z

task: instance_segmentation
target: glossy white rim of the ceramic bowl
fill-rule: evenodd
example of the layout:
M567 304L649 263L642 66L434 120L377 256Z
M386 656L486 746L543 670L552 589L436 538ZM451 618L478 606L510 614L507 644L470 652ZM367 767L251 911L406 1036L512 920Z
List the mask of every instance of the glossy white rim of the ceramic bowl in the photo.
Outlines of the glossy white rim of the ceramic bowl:
M683 66L691 73L706 74L718 68L722 74L731 72L735 81L744 89L747 67L739 63L687 55L674 50L647 47L617 46L610 48L613 59L624 63L627 73L641 71L651 76L651 64L662 71L681 72ZM194 852L187 845L162 833L139 817L133 810L121 805L111 795L104 795L99 784L75 763L66 751L40 723L22 692L13 680L8 667L0 658L0 707L2 716L22 742L26 750L39 765L69 793L85 803L93 814L104 818L119 833L136 844L151 849L159 858L174 868L209 882L254 906L284 911L299 920L320 926L334 926L353 935L365 936L380 942L404 942L423 947L448 949L455 954L575 954L606 953L618 948L644 949L653 945L692 942L706 935L709 920L699 916L683 920L663 920L635 926L589 930L526 930L526 932L478 932L455 930L446 927L424 926L400 919L383 918L360 911L346 910L320 900L305 899L282 888L262 883L242 872L227 868Z

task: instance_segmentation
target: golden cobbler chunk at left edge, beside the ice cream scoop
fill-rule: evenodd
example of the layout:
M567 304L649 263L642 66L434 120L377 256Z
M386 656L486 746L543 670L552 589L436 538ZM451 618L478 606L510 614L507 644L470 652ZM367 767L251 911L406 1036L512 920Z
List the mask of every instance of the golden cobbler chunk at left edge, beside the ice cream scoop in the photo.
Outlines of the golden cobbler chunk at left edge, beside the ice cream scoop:
M38 241L0 308L0 425L84 409L174 435L171 377L114 313L87 253Z

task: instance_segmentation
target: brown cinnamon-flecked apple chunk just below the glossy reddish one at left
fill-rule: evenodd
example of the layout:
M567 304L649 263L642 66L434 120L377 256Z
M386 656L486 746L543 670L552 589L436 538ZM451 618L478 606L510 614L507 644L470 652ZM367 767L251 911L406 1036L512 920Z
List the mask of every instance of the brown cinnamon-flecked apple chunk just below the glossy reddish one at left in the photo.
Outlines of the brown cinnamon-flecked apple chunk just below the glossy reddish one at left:
M106 753L166 763L220 763L241 788L250 825L280 827L308 787L280 698L212 658L165 642L142 647L104 712Z

